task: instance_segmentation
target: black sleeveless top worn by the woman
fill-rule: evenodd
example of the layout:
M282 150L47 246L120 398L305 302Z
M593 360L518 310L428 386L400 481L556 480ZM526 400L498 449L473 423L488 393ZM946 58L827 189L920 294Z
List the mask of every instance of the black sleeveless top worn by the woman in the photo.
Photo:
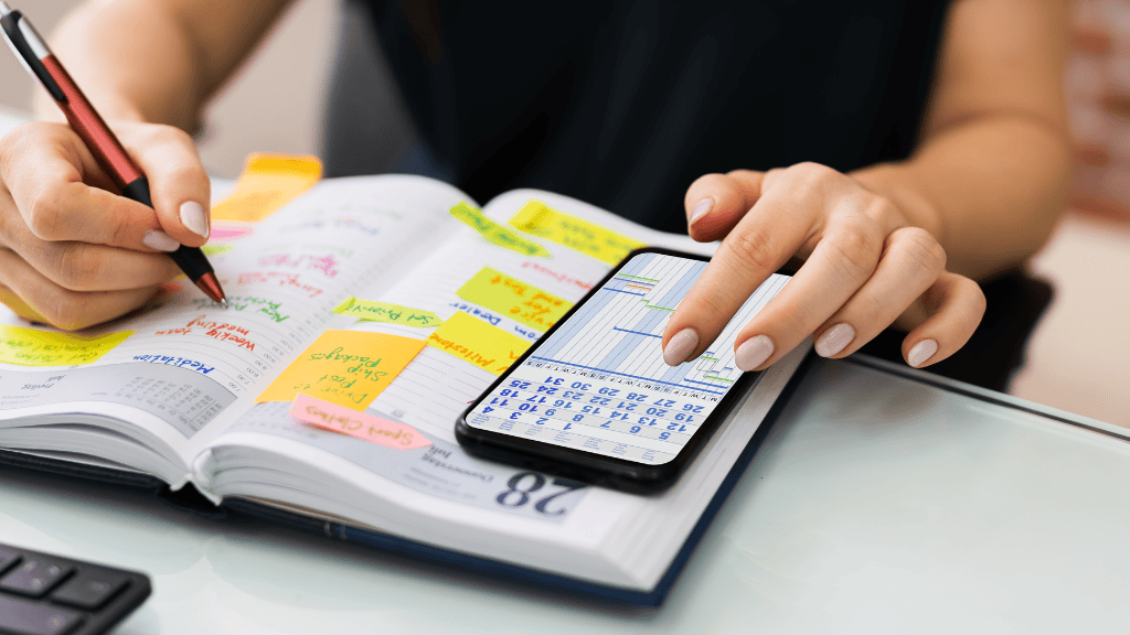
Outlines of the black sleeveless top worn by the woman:
M480 201L568 194L685 232L698 176L906 157L945 1L382 2L423 140Z

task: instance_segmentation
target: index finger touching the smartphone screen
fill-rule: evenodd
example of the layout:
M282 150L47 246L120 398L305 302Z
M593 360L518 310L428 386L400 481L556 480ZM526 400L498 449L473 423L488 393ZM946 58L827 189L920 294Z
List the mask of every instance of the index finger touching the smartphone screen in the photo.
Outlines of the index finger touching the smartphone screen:
M810 235L823 209L823 194L803 173L798 175L793 186L765 189L679 302L663 331L668 364L678 365L706 350L746 299Z

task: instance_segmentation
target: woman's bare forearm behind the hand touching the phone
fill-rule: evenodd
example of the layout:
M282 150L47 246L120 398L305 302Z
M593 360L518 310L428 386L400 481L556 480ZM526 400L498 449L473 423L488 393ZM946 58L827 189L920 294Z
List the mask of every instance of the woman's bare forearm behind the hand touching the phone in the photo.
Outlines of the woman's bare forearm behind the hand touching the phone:
M947 269L983 279L1048 240L1067 205L1066 132L1023 115L982 116L938 131L909 160L852 174L930 230Z

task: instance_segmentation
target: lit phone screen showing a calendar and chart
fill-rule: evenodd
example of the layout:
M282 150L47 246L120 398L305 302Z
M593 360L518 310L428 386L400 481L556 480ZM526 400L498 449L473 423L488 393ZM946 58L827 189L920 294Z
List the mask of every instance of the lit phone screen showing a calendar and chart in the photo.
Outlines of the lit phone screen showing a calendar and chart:
M659 466L673 459L741 374L738 331L789 280L773 275L702 356L676 367L661 338L706 262L641 253L468 414L469 426Z

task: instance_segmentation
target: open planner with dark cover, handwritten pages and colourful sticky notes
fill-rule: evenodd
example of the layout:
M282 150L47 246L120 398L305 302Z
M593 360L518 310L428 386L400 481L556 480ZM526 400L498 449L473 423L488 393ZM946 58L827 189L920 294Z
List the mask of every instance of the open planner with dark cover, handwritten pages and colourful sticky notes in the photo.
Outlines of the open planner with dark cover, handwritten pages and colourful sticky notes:
M403 175L327 180L212 238L229 308L182 278L89 332L0 325L5 460L191 485L331 538L659 603L807 350L762 373L675 486L624 494L472 458L453 424L629 250L713 245L549 192L479 210ZM662 280L635 282L640 311L670 311ZM616 330L658 349L662 324ZM641 394L737 373L725 355L688 364L685 385L597 371Z

